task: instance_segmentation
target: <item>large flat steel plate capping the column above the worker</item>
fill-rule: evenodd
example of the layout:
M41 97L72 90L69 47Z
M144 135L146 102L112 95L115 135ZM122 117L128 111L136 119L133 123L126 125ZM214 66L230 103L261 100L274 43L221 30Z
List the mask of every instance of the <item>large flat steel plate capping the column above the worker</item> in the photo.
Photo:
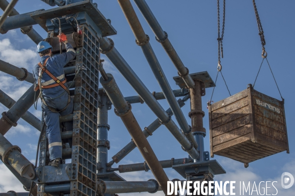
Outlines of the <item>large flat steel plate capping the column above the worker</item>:
M40 11L31 14L31 17L47 31L46 20L56 17L61 17L68 14L75 14L79 12L86 12L93 22L102 31L102 37L116 35L117 31L109 23L109 21L102 15L97 7L91 2L91 0L84 0L61 7Z

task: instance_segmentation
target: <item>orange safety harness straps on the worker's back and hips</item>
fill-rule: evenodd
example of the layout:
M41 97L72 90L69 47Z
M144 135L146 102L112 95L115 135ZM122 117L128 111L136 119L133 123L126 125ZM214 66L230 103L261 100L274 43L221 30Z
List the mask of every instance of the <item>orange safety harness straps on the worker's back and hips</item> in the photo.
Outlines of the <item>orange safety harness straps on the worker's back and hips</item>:
M44 105L46 105L49 109L50 109L50 111L52 111L52 112L55 112L55 113L58 113L58 112L62 112L62 111L64 111L66 108L67 108L67 106L70 104L70 102L71 102L71 97L70 97L70 92L69 92L69 89L64 85L64 83L66 82L66 78L64 78L64 74L62 74L62 75L60 75L60 76L58 76L58 77L56 77L56 76L54 76L52 73L50 73L48 70L47 70L47 68L46 68L46 63L47 63L47 61L48 61L48 59L49 59L50 57L48 57L45 61L44 61L44 63L43 63L43 65L41 64L41 62L39 62L38 63L38 65L39 65L39 67L40 67L40 71L41 72L39 72L39 76L38 76L38 85L35 85L35 88L34 88L34 91L37 91L38 89L40 89L40 94L39 94L39 96L38 96L38 98L41 98L41 100L42 100L42 102L44 103ZM47 73L52 79L51 80L49 80L49 81L46 81L46 82L43 82L43 83L41 83L41 78L42 78L42 74L43 73ZM64 78L64 80L63 81L60 81L61 79L63 79ZM53 83L53 82L56 82L55 84L51 84L51 83ZM51 85L49 85L49 84L51 84ZM67 105L63 108L63 109L61 109L61 110L58 110L58 109L56 109L56 108L53 108L53 107L50 107L50 106L48 106L47 104L46 104L46 101L44 100L44 98L43 98L43 96L42 96L42 90L43 89L49 89L49 88L53 88L53 87L57 87L57 86L61 86L67 93L68 93L68 102L67 102Z

